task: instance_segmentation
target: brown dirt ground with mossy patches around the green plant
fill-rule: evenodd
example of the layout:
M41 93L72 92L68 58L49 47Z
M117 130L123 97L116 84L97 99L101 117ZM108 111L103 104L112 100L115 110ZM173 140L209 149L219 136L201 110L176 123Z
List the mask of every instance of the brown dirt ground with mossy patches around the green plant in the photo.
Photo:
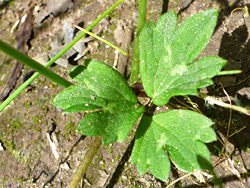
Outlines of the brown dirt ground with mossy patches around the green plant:
M29 0L0 1L0 39L15 46L20 21L27 14ZM115 0L50 1L34 0L33 33L29 40L28 55L42 62L48 61L66 43L66 36L75 35L76 29L65 29L70 24L90 25ZM60 7L60 3L63 3ZM213 38L201 56L219 55L228 61L225 70L242 70L241 74L220 76L215 84L203 88L208 95L226 99L221 84L232 97L232 102L250 107L250 16L243 9L250 8L250 0L151 0L148 1L147 19L156 21L159 16L174 10L180 23L188 16L211 8L218 8L220 16ZM139 1L126 0L113 11L106 22L93 29L117 46L124 43L126 28L131 28L129 53L132 55ZM101 27L103 25L103 27ZM67 33L68 32L68 33ZM94 58L111 66L119 59L114 49L96 40L85 38L83 57L74 61L71 53L53 65L51 70L69 79L67 71L84 59ZM77 51L78 54L80 53ZM15 61L0 52L0 92L6 85ZM126 76L131 60L127 62ZM23 77L31 69L24 67ZM221 83L221 84L220 84ZM84 113L63 114L50 104L50 100L63 88L39 76L0 113L0 187L67 187L71 177L94 138L79 135L76 127ZM182 97L180 100L186 102ZM250 119L239 112L232 113L229 140L225 144L230 111L213 106L197 97L192 100L210 117L218 141L208 144L215 174L223 187L250 187ZM179 104L171 100L174 104ZM179 104L180 105L180 104ZM124 143L102 146L95 156L79 187L213 187L207 172L185 176L172 166L168 182L154 178L150 173L140 175L131 164L132 132ZM55 150L52 150L53 145ZM225 145L225 149L223 146ZM58 154L58 156L57 156Z

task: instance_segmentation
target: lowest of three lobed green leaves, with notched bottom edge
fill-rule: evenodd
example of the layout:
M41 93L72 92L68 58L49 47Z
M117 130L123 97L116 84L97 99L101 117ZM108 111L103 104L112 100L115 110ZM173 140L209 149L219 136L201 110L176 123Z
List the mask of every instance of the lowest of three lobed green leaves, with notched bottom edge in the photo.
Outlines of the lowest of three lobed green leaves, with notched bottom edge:
M155 177L166 181L170 171L167 150L174 164L186 172L211 170L210 153L204 144L216 140L211 124L205 116L188 110L143 116L136 133L132 163L140 174L149 168Z

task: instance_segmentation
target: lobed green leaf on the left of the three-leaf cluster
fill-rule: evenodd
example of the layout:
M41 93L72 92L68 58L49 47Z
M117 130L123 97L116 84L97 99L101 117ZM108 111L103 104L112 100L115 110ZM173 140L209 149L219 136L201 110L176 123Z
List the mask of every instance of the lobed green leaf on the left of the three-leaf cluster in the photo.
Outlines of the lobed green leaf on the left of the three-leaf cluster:
M144 112L123 76L94 60L87 61L86 67L77 66L70 76L80 84L64 89L52 104L67 113L91 110L81 120L78 132L102 135L104 144L123 142Z

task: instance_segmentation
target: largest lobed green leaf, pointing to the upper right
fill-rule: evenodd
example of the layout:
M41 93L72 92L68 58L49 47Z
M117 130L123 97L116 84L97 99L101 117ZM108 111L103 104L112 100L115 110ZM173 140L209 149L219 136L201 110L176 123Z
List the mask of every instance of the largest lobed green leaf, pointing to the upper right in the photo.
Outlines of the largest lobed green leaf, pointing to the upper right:
M193 62L209 42L218 17L217 10L195 14L177 27L177 16L169 12L157 24L147 22L140 33L140 70L145 92L156 105L172 96L196 95L197 89L213 84L226 61L208 56Z

